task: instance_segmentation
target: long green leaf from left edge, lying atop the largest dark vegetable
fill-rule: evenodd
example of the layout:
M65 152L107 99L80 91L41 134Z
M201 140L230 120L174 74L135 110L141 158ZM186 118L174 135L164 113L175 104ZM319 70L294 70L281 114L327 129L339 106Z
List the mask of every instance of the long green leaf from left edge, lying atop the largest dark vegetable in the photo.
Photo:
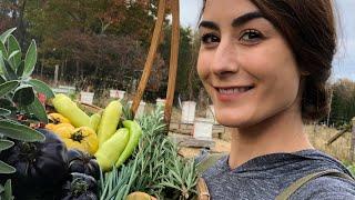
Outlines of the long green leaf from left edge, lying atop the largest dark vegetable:
M0 120L0 133L21 141L43 141L44 136L27 126L10 120Z

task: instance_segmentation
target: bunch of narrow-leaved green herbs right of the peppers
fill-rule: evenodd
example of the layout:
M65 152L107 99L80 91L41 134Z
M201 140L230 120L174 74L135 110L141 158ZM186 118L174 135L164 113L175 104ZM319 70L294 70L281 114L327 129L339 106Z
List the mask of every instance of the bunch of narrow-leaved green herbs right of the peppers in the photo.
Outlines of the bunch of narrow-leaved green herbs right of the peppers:
M162 109L143 116L139 123L143 132L139 148L125 166L102 174L100 199L125 199L134 191L159 199L193 199L195 163L180 157L178 147L166 137Z

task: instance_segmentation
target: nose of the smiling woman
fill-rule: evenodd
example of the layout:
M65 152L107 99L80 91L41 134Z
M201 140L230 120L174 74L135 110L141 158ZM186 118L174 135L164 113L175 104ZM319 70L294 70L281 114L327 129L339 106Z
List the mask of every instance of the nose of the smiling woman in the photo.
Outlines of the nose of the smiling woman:
M214 53L212 71L217 76L236 73L239 70L236 48L229 40L221 41Z

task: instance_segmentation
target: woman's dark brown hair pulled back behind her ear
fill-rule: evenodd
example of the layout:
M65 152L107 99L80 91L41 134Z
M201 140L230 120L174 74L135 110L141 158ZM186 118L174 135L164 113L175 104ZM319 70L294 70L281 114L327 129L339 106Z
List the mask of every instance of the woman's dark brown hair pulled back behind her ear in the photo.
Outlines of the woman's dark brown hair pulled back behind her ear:
M315 121L323 118L329 110L326 81L331 76L336 49L333 1L251 0L251 2L280 30L295 56L304 81L303 120Z

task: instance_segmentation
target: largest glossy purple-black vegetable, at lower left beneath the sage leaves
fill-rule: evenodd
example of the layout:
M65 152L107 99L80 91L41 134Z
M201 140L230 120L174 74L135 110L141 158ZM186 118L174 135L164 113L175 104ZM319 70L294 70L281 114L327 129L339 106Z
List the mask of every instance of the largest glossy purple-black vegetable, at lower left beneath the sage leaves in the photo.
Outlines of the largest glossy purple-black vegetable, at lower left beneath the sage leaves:
M68 179L65 144L47 129L38 131L44 134L44 141L17 141L6 153L4 161L16 168L16 172L9 174L16 199L30 197L33 192L54 192L55 189L60 191Z

